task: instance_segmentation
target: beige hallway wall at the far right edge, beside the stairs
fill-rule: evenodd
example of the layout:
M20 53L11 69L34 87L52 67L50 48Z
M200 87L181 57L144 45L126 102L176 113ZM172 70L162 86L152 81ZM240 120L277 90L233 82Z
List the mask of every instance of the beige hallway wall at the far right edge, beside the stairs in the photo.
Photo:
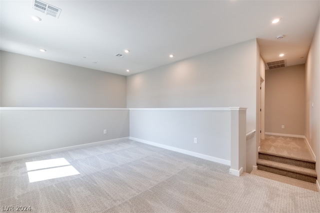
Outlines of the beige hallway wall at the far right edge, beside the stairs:
M320 18L305 63L306 129L305 136L316 156L317 176L320 176ZM313 106L312 106L313 103ZM319 183L319 182L318 182Z

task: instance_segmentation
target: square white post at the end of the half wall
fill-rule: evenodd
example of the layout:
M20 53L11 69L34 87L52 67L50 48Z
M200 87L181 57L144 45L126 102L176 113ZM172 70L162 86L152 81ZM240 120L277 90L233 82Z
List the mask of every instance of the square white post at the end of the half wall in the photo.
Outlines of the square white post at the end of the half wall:
M240 176L246 171L246 108L230 107L231 117L231 156L230 169L232 175Z

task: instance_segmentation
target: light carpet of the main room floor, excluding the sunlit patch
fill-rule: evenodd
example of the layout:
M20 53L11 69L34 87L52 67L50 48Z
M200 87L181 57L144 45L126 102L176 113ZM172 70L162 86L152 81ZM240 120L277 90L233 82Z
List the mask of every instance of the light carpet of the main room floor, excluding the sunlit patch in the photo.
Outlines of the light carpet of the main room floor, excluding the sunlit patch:
M29 183L25 162L64 157L80 174ZM2 206L31 212L320 212L320 194L123 140L0 164Z

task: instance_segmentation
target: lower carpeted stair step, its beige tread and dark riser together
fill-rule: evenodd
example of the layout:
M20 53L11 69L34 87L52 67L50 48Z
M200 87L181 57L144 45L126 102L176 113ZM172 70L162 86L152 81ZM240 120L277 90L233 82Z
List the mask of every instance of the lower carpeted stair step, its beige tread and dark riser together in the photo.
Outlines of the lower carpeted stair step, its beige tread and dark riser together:
M314 169L289 165L266 159L257 159L256 164L257 168L263 171L268 171L312 183L315 183L316 181L316 172Z

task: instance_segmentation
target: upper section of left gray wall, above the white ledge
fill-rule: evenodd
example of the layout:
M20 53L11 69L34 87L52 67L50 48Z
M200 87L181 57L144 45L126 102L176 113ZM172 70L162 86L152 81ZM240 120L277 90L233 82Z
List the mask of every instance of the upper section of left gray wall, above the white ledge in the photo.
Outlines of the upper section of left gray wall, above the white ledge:
M1 51L2 107L126 107L126 77Z

